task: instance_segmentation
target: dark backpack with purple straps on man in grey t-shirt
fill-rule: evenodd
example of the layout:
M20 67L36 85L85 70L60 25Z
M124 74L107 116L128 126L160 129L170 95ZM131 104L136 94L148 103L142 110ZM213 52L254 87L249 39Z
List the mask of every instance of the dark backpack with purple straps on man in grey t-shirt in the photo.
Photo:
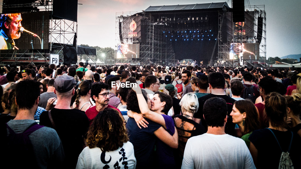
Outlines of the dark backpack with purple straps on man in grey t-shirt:
M5 152L5 156L7 156L8 159L5 163L9 164L11 168L38 168L38 166L36 166L36 159L34 158L33 145L28 136L42 127L44 126L35 122L26 128L23 133L15 133L8 124L6 124L9 135L6 137L7 151Z

